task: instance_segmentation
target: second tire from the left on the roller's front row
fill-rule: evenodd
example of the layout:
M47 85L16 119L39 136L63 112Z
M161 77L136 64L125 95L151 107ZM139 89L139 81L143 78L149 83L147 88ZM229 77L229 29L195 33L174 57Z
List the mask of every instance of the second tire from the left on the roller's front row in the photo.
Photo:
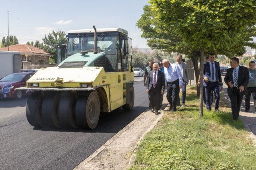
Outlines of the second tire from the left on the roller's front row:
M51 92L44 96L42 103L42 118L47 127L61 127L59 120L60 93Z

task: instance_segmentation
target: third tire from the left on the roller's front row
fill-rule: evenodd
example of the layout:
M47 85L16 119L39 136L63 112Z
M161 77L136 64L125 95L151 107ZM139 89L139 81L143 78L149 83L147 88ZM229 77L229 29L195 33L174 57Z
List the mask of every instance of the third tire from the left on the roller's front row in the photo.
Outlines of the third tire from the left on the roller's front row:
M76 97L71 93L62 93L59 102L59 119L64 128L78 128L76 123Z

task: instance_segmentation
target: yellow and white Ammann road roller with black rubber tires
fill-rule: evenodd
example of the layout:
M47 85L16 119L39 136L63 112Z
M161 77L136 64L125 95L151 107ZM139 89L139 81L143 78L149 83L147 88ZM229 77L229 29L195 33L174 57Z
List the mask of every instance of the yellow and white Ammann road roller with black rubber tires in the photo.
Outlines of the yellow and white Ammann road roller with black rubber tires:
M32 126L93 129L100 112L132 109L132 44L126 30L68 31L67 44L56 47L58 66L41 68L19 88L35 91L26 105Z

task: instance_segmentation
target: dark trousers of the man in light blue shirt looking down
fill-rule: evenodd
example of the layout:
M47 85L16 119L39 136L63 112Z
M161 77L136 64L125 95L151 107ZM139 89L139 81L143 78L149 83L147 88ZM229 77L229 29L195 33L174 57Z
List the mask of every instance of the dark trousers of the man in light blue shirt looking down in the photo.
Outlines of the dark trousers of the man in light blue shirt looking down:
M170 107L172 107L174 111L176 110L179 91L180 91L179 81L176 81L174 83L167 82L166 98L170 103Z

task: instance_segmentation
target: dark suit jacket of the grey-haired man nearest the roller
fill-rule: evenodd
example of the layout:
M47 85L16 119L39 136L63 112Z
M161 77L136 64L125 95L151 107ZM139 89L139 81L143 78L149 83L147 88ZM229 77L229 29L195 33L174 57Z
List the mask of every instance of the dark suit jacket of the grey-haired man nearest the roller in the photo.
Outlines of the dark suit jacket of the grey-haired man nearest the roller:
M147 87L148 91L153 87L153 84L152 84L153 83L153 73L154 73L154 70L151 70L147 76L146 87ZM157 81L156 81L156 90L164 91L164 88L165 88L164 73L162 71L158 70Z

